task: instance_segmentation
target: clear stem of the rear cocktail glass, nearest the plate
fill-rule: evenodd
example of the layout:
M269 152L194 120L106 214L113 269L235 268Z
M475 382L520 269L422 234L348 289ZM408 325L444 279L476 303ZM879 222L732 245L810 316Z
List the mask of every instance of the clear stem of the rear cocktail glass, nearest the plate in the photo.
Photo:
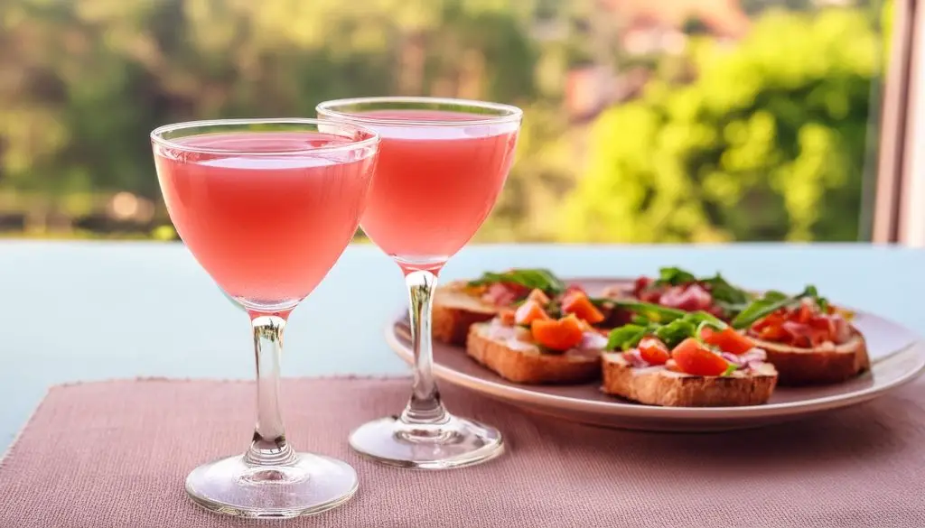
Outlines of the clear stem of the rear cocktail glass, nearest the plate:
M434 379L434 350L431 348L430 320L437 275L427 270L408 270L405 275L410 299L409 315L414 347L414 381L411 399L401 412L401 422L409 425L444 424L449 415L440 402Z

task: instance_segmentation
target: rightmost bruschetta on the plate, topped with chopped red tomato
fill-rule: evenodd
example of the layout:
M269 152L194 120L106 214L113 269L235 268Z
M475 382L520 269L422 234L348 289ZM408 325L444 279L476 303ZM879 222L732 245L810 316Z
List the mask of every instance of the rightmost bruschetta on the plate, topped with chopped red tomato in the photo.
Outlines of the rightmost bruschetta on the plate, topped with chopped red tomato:
M870 369L867 343L850 319L808 287L794 297L767 292L733 325L767 351L781 385L825 385Z

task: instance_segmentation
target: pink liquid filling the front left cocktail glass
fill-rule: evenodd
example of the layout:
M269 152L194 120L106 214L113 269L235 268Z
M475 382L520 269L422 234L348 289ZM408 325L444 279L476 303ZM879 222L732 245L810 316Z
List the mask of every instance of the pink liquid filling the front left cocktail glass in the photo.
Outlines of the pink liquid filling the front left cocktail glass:
M257 306L308 295L359 224L374 167L370 147L364 153L304 150L349 142L315 132L218 133L174 142L250 153L154 146L170 218L218 285ZM286 154L253 154L261 151Z

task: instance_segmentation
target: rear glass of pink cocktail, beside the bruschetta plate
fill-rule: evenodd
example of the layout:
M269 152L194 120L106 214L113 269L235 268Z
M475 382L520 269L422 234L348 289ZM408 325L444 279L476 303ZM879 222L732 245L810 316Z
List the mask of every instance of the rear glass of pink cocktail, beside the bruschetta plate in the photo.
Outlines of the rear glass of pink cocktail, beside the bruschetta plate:
M499 431L453 416L432 370L431 299L440 269L485 222L510 171L522 112L426 97L329 101L320 117L362 124L382 143L361 225L405 275L414 347L412 396L398 417L364 424L351 447L380 462L462 467L503 451Z

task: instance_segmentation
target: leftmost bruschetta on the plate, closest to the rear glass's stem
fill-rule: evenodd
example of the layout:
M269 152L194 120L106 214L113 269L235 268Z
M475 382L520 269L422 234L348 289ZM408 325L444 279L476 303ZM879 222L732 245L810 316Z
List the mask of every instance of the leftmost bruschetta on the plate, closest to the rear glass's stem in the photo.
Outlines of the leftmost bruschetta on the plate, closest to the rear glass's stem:
M533 289L554 297L565 291L565 285L549 270L512 269L438 287L431 322L433 337L451 345L465 345L469 326L489 321L524 301Z

